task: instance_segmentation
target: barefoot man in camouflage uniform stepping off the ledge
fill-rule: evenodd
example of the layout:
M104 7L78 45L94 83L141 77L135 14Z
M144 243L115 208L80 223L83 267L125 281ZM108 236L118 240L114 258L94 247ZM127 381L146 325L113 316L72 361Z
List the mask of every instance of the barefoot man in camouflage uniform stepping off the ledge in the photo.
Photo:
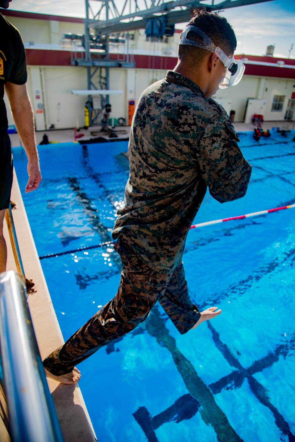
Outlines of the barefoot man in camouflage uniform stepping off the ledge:
M236 38L226 19L201 12L189 24L233 56ZM143 92L134 115L125 206L112 232L123 263L118 293L43 361L46 375L61 382L77 382L74 365L134 330L157 301L181 334L221 312L199 312L192 304L185 240L207 187L221 203L242 198L251 166L225 110L210 98L224 65L214 53L187 45L180 45L179 58L174 71Z

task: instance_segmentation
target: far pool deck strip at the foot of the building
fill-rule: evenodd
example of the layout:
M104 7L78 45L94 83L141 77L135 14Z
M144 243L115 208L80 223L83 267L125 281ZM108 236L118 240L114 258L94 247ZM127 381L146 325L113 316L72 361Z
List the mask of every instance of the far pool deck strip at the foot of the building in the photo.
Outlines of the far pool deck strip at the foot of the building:
M280 129L290 130L295 128L295 122L284 120L284 121L266 121L263 123L264 130L267 129L271 130L272 127L280 127ZM246 124L244 122L234 122L234 128L237 132L251 132L253 131L254 126L251 123ZM101 126L92 126L89 127L87 130L80 129L79 134L84 134L84 136L81 137L80 140L83 141L84 139L87 140L89 138L93 138L94 135L92 135L91 132L96 132L97 133L95 135L96 137L101 136L109 140L114 139L110 138L107 134L104 133L98 134L100 130ZM114 130L118 132L117 135L119 139L129 137L130 135L130 126L116 126ZM48 136L49 141L53 143L71 143L74 141L73 129L63 129L63 130L51 129L51 130L45 130L45 131L42 130L36 132L37 144L41 142L44 133L46 133L46 135ZM10 139L12 147L19 147L20 141L17 133L10 134Z

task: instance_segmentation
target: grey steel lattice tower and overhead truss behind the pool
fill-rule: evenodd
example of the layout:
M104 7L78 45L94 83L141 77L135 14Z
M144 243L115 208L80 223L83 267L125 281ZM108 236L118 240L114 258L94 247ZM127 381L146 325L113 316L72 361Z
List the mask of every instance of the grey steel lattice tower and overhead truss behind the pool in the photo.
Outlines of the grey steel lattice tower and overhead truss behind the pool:
M174 25L189 21L194 9L218 11L267 1L273 0L85 0L85 34L80 37L84 51L81 52L81 57L72 57L72 64L87 67L88 90L98 89L94 81L98 70L100 87L103 84L109 89L110 67L134 67L134 61L129 55L130 30L146 29L148 35L147 25L158 22L158 29L161 29L158 36L172 36ZM165 30L168 34L165 34ZM121 59L110 57L109 54L109 43L114 38L110 38L110 35L120 33L126 33L127 40L126 53ZM102 50L97 49L98 46ZM101 109L94 111L92 97L88 95L86 106L91 117L90 126L97 122L108 103L109 97L101 95Z

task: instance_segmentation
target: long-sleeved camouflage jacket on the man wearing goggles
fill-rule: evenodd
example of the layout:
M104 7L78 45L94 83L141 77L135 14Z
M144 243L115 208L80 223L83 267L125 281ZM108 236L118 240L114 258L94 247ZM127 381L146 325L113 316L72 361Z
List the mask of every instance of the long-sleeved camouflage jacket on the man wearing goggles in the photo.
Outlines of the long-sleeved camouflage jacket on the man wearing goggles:
M125 207L113 238L127 240L154 270L173 271L207 187L219 202L247 191L252 167L237 141L226 111L192 80L168 71L136 107Z

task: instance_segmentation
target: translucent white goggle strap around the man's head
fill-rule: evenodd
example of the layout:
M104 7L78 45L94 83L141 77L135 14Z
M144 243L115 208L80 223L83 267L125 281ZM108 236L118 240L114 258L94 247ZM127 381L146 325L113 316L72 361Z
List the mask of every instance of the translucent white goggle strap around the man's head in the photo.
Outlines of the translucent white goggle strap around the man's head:
M194 40L190 40L187 38L188 32L193 31L196 34L199 34L202 38L202 42L195 42ZM211 51L217 55L217 57L222 61L222 63L226 66L226 68L230 71L230 73L237 72L238 65L233 62L232 59L230 59L226 53L223 52L222 49L220 49L218 46L216 46L210 37L208 37L205 32L203 32L201 29L199 29L196 26L187 26L184 28L181 34L180 38L180 45L190 45L190 46L196 46L197 48L207 49L208 51Z

